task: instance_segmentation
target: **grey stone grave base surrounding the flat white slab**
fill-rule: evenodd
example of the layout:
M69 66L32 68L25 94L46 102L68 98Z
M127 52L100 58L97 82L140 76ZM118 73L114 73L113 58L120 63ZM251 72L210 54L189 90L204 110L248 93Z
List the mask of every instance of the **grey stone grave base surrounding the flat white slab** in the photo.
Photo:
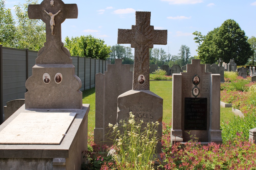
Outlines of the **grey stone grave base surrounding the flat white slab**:
M87 150L89 110L89 104L83 104L82 109L29 110L23 105L0 126L0 131L20 113L76 112L77 115L59 145L0 145L0 169L81 169L85 161L82 151Z

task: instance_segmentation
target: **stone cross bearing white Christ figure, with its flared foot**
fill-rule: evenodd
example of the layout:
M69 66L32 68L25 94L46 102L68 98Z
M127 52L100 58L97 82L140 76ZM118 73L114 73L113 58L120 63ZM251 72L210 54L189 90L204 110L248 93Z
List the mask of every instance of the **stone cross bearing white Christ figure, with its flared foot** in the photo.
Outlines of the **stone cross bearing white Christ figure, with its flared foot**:
M38 51L37 64L72 64L70 53L61 42L61 23L77 16L77 4L64 4L61 0L55 0L54 5L49 0L28 5L29 19L41 19L46 23L46 42Z

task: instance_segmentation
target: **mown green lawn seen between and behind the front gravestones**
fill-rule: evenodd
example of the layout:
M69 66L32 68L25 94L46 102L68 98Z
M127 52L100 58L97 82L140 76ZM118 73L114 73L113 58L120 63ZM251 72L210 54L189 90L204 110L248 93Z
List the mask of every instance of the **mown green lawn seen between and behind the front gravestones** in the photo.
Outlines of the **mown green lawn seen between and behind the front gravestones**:
M164 99L163 122L169 123L172 118L172 81L151 81L150 91ZM88 129L93 130L95 127L95 88L83 91L83 103L90 104ZM220 107L220 124L232 119L234 119L232 109Z

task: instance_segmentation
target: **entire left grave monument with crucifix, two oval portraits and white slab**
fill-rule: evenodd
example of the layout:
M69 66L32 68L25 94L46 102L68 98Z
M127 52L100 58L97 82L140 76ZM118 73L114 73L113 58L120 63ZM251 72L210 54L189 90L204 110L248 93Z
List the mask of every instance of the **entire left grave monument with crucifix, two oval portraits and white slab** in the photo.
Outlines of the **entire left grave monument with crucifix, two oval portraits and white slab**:
M77 18L77 5L44 0L29 5L28 16L46 23L46 42L26 81L25 105L0 126L0 169L80 169L89 104L61 42L61 23Z

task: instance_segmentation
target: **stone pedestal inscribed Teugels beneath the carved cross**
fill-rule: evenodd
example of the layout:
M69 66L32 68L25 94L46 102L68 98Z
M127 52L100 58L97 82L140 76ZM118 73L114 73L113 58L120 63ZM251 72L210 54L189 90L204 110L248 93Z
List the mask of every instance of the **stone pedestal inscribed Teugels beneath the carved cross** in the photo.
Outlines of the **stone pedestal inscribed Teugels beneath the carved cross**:
M157 143L157 153L161 153L162 143L162 119L163 99L149 90L130 90L118 96L117 123L120 120L127 121L129 112L135 116L135 120L143 120L143 127L150 122L159 122L157 135L160 141Z

